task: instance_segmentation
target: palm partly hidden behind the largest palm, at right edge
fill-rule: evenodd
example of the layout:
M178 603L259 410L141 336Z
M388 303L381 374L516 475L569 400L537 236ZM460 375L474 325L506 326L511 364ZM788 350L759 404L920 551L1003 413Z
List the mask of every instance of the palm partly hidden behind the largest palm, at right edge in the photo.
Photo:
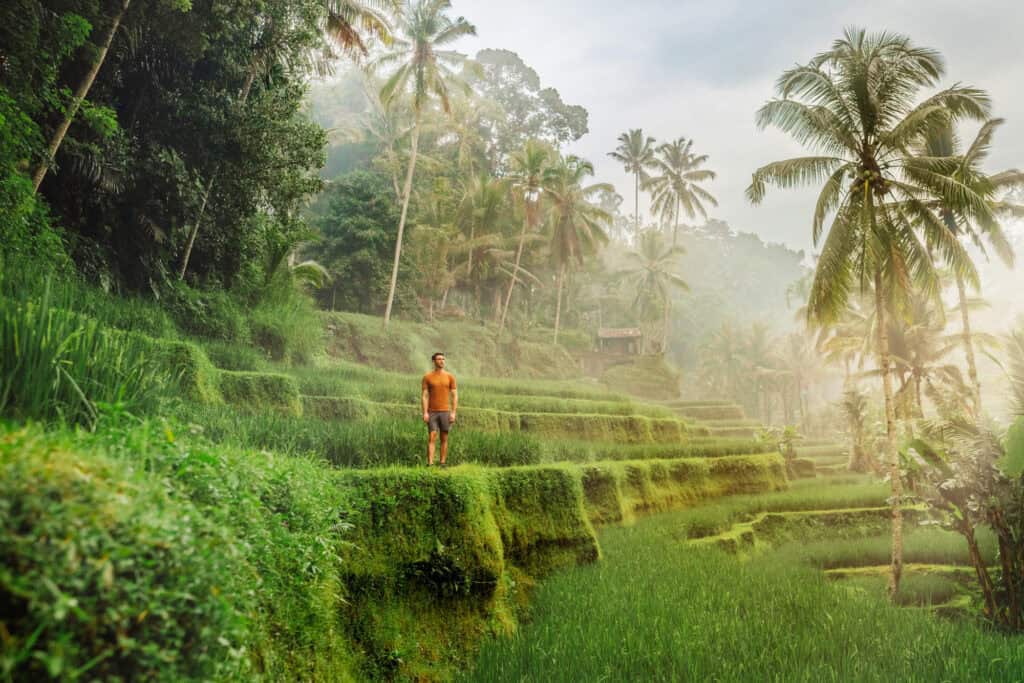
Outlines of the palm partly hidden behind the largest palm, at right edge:
M929 131L928 136L921 145L919 154L931 158L948 157L955 159L955 163L950 164L945 169L945 175L950 181L964 183L978 195L984 197L991 203L993 213L1024 216L1024 207L1009 202L1000 202L996 197L997 193L1002 189L1024 186L1024 173L1016 169L1010 169L994 175L987 175L981 170L981 164L988 157L989 150L991 148L992 136L995 133L995 129L1001 124L1002 119L986 121L966 151L961 150L959 140L953 132L952 125L947 124L935 128ZM1013 267L1013 247L997 222L972 221L970 216L964 215L955 207L942 202L937 203L936 208L942 218L942 222L957 239L970 238L982 250L984 250L984 242L988 242L1007 267ZM956 291L959 296L959 313L963 325L962 342L964 352L967 355L968 377L970 378L973 391L974 412L975 415L980 415L981 382L978 379L978 365L975 360L974 344L971 342L971 319L968 312L967 286L959 273L956 273Z

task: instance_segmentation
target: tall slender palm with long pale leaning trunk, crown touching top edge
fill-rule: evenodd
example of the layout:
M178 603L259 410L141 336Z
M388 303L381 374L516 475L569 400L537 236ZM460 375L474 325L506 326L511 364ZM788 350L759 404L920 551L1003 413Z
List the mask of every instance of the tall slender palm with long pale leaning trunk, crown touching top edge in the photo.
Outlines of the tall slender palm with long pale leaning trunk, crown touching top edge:
M375 68L396 66L394 73L381 88L381 101L390 106L401 96L411 94L414 119L409 169L406 173L401 214L398 218L398 236L394 243L391 285L388 289L387 307L384 309L384 327L391 322L391 306L394 303L394 292L398 283L401 238L406 231L409 199L413 191L413 174L416 172L416 154L423 111L430 99L436 97L444 113L451 115L452 88L469 91L469 85L454 71L466 65L466 56L453 50L438 49L463 36L476 34L473 25L463 17L452 19L445 14L451 7L450 0L418 0L406 3L396 17L397 35L392 37L391 49L378 57L373 65Z

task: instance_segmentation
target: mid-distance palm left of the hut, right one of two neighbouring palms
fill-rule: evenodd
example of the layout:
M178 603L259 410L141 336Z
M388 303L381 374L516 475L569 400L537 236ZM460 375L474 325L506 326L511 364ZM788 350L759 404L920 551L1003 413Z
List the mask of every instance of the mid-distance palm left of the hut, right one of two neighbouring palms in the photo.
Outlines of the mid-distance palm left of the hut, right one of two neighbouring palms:
M555 302L555 339L562 314L562 289L565 270L574 262L583 264L586 249L596 249L608 241L603 224L611 217L603 209L590 203L590 198L601 191L611 191L606 182L584 185L588 176L594 175L589 161L569 156L558 159L544 171L544 194L548 199L546 222L551 226L551 258L558 267L558 294Z

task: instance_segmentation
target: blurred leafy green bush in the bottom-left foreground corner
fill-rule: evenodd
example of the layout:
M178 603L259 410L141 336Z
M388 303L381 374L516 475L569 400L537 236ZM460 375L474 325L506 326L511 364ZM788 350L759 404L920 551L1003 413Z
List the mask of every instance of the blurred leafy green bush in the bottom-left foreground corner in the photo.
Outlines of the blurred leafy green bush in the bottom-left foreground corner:
M237 666L239 545L157 479L0 431L0 667L20 680L209 680ZM188 596L185 598L184 596Z

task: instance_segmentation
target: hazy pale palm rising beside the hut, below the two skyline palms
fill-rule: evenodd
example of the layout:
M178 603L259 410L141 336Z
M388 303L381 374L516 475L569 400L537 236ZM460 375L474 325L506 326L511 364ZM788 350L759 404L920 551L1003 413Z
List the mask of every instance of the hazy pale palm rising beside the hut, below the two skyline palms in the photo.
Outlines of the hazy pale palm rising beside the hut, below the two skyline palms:
M626 253L629 267L621 271L631 288L636 291L633 306L650 303L662 307L662 351L669 347L669 313L672 309L672 290L685 292L689 287L674 271L680 269L679 258L686 253L682 247L665 244L657 230L640 233L639 248Z

